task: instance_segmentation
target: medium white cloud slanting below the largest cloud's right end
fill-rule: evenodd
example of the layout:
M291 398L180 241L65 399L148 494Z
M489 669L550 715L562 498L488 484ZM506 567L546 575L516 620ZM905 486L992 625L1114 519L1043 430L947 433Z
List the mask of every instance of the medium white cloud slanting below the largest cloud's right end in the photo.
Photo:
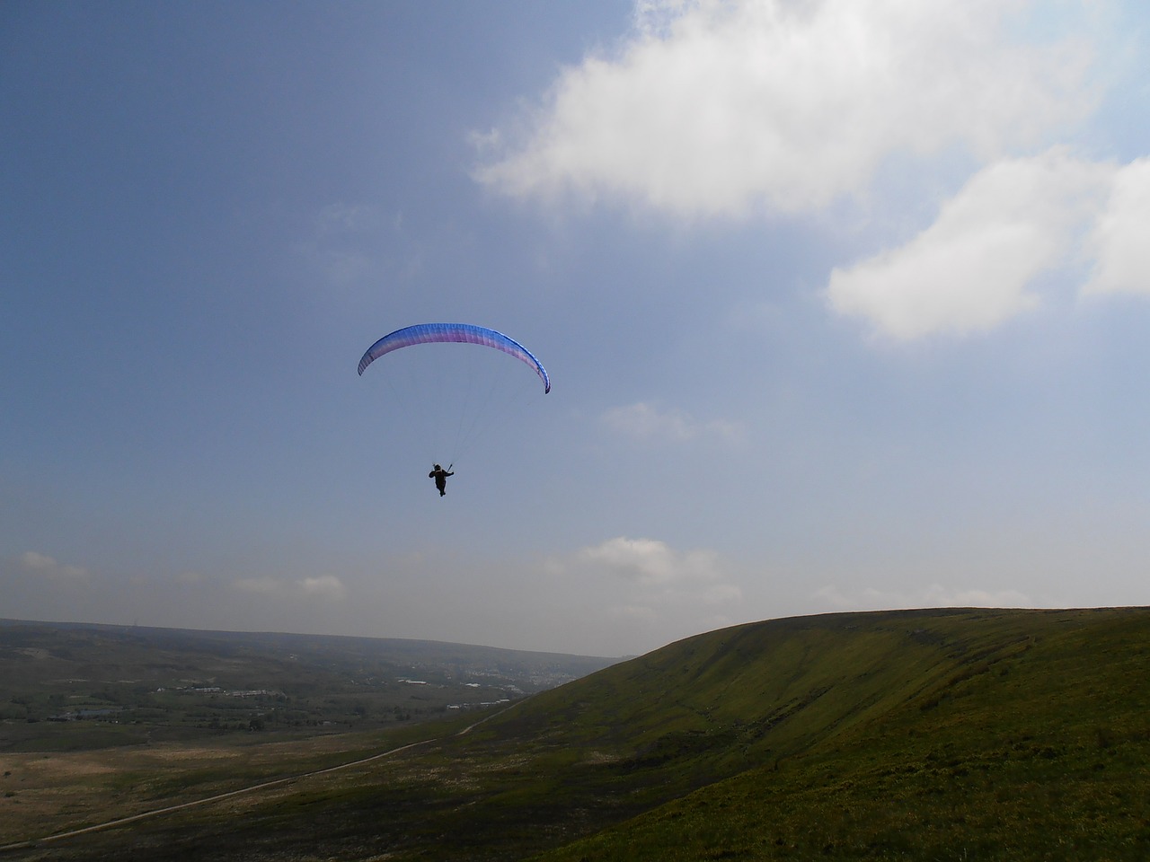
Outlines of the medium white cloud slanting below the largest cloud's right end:
M906 245L835 268L828 301L898 339L989 330L1040 303L1032 283L1076 256L1113 172L1063 149L991 164Z

